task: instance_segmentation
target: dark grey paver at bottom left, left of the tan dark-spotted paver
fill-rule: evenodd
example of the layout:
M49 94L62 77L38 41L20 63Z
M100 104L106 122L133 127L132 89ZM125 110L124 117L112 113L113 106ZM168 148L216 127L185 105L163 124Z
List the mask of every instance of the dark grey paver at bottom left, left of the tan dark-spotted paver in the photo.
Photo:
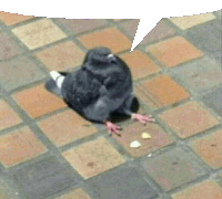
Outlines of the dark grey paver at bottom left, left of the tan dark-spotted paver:
M13 177L30 199L46 198L78 184L54 157L14 170Z

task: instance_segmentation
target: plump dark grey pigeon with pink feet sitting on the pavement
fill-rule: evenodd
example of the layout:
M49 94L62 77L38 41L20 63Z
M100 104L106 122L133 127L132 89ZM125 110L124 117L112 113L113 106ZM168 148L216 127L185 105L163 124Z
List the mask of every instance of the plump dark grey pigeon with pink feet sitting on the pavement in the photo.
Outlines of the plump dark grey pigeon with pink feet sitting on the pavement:
M120 126L110 121L118 112L147 124L152 116L131 112L134 98L129 66L105 46L88 51L79 70L72 73L50 72L46 87L61 96L64 102L84 118L103 123L110 134L120 136Z

